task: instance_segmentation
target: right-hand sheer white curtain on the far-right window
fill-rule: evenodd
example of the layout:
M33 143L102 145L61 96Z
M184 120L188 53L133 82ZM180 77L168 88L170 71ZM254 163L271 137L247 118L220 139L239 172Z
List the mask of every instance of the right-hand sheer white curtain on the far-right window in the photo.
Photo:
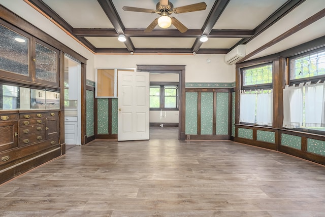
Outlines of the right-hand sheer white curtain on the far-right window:
M308 82L305 86L305 126L321 127L324 126L324 84L313 84Z

